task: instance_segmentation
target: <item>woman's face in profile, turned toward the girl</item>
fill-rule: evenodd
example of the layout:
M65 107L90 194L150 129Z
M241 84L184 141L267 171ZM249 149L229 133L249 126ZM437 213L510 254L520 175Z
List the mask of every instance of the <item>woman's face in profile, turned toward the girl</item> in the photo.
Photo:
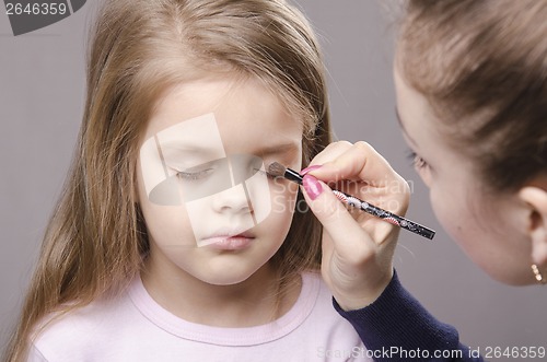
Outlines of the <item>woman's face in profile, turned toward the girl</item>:
M473 160L440 132L428 101L395 69L397 113L415 168L430 190L433 211L467 256L492 278L509 284L529 282L531 246L515 195L487 195ZM508 171L511 172L511 171Z

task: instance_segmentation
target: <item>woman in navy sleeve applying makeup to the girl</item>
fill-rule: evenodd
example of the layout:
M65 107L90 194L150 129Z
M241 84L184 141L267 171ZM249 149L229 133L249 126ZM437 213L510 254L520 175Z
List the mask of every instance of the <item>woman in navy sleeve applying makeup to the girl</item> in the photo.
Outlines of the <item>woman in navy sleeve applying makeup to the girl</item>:
M394 71L397 110L435 214L492 278L545 284L547 1L410 0L407 7ZM312 161L324 166L311 174L325 182L340 175L359 179L361 160L375 156L345 148L327 148ZM318 219L328 221L327 232L350 223L344 214L337 220L322 212L329 202L335 200L328 192L311 201ZM382 249L370 252L370 260L383 258ZM363 259L356 275L364 279L382 270ZM377 361L480 360L396 277L384 287L363 288L369 300L341 312L371 353L397 347L394 353L372 353ZM546 348L516 346L500 353L545 360Z

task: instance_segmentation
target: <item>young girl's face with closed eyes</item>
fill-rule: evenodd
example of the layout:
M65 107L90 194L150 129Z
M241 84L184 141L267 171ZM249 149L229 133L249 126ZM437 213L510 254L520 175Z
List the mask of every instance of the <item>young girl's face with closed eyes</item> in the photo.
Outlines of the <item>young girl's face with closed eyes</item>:
M300 168L302 130L255 79L201 79L165 93L138 162L148 262L217 285L265 266L289 231L298 192L265 170L274 161Z

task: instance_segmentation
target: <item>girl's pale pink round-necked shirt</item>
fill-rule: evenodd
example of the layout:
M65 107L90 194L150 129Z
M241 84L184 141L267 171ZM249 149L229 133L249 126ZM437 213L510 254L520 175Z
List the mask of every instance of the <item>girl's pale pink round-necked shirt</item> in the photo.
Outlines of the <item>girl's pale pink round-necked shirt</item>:
M161 307L136 278L116 300L97 301L50 324L28 361L372 361L333 307L318 273L302 276L294 306L269 324L220 328Z

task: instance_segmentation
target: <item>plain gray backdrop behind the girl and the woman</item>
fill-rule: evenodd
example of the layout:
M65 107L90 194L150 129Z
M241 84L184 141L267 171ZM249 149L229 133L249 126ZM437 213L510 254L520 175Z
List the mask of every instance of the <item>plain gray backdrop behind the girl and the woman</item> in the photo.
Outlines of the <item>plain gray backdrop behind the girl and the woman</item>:
M366 140L409 180L408 217L438 230L434 242L403 232L400 279L439 319L480 347L547 347L546 291L490 280L441 230L407 160L394 117L392 16L373 0L300 0L329 70L338 139ZM1 8L1 7L0 7ZM61 190L84 98L84 49L93 1L70 17L14 37L0 13L0 346L11 332L44 229ZM523 359L498 359L516 361Z

